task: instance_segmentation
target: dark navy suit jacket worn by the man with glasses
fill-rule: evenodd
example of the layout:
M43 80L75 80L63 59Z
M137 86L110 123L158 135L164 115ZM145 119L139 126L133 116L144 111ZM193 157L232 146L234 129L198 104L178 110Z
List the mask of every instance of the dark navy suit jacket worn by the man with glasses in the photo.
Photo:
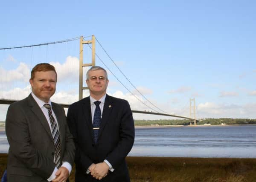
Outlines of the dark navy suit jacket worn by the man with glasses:
M126 100L106 95L98 143L93 140L90 97L70 105L67 121L76 146L76 182L98 181L86 171L92 163L105 159L115 170L102 182L130 181L125 157L134 143L134 120Z

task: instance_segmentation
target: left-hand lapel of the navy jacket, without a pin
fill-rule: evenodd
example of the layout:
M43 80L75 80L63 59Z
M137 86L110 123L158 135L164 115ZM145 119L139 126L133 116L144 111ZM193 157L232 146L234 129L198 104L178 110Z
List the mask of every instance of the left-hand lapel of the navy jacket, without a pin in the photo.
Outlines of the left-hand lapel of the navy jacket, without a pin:
M91 112L91 106L90 106L90 97L83 98L82 108L83 108L82 121L84 121L87 124L87 128L89 128L90 136L93 141L93 120L92 120L92 112Z

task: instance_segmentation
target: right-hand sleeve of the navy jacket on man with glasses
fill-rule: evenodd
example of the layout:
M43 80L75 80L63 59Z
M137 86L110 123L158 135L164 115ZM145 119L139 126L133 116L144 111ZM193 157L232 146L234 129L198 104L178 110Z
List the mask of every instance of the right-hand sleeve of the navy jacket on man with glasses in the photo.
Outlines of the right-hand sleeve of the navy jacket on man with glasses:
M122 110L120 111L120 128L119 128L119 142L117 146L108 154L107 160L111 163L113 168L117 168L125 157L131 151L134 144L134 119L128 101L123 100Z

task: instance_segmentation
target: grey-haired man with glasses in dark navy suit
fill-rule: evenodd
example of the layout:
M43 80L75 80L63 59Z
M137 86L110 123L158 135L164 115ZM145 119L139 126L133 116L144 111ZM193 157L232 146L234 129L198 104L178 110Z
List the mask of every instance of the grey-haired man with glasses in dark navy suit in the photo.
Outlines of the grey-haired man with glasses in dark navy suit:
M126 100L106 94L108 75L99 66L86 74L90 96L70 105L67 121L76 145L76 182L129 182L125 157L134 143Z

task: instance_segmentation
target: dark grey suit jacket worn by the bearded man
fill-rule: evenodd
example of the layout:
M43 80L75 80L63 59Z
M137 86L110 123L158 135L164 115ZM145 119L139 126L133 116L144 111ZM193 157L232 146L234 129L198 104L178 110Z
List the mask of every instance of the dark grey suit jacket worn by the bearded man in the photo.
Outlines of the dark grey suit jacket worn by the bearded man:
M64 109L52 102L52 110L58 120L61 160L73 165L75 146ZM46 182L55 168L55 147L47 119L31 94L9 106L6 136L8 182Z

